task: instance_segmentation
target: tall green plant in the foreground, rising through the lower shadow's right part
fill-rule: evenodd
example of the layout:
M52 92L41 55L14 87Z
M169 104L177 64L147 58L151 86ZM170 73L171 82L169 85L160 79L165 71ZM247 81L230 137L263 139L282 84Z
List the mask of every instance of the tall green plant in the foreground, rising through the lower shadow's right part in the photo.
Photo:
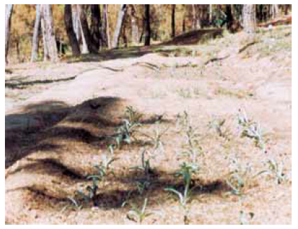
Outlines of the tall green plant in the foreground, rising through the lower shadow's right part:
M179 204L184 211L184 224L189 224L189 209L187 204L191 199L191 192L194 187L191 188L191 176L193 173L198 172L198 165L182 163L180 170L176 173L176 176L182 176L184 181L184 192L179 192L177 189L172 187L166 188L165 191L173 192L179 197Z

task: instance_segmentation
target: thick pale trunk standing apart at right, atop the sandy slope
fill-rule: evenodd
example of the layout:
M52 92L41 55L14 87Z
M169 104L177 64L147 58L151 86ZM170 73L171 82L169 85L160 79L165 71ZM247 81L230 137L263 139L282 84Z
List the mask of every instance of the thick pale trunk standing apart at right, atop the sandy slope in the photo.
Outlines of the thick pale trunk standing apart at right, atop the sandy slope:
M245 4L243 7L244 31L256 32L256 7L254 4Z

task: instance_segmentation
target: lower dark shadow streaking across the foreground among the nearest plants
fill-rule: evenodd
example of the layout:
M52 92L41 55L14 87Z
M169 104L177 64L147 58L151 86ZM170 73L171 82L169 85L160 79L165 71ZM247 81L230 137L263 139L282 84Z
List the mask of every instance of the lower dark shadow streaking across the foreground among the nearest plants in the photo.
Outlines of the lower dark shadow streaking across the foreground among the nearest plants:
M36 160L38 162L38 160ZM61 165L60 163L57 163L55 160L41 160L41 163L52 164L54 167L57 167L61 170L63 170L64 175L67 175L68 177L73 177L73 182L80 182L82 189L85 189L88 185L90 185L90 181L79 175L76 175L76 172L73 172L72 170L69 170L64 165ZM22 169L27 169L32 171L32 174L36 173L35 171L35 164L31 165L30 167L23 167ZM51 165L52 167L52 165ZM20 170L17 170L18 172ZM54 172L53 172L54 173ZM76 192L73 192L72 198L76 199L78 204L82 204L84 208L91 208L93 206L99 207L101 209L109 210L109 209L120 209L123 206L124 202L130 203L130 204L136 204L139 203L140 206L143 204L143 199L147 197L150 199L150 197L155 198L158 196L158 199L165 203L169 200L169 193L165 192L165 188L167 187L173 187L174 189L177 189L179 192L184 192L184 184L183 180L177 177L174 177L173 174L169 174L165 171L160 170L154 170L154 172L149 175L145 176L141 172L136 171L130 171L126 175L123 174L114 174L109 175L107 177L107 180L109 180L109 187L100 187L97 191L96 196L93 197L93 199L85 203L82 196L76 195ZM84 184L85 181L85 184ZM65 182L65 181L63 181ZM73 184L72 182L72 184ZM148 187L143 189L142 192L137 187L137 183L141 182L148 182ZM117 184L116 186L113 184ZM126 186L126 188L121 188L123 185ZM60 187L59 184L52 184L56 185L54 189L63 189L63 187ZM71 185L71 184L69 184ZM112 187L111 187L112 185ZM52 189L53 187L51 187ZM225 182L222 180L215 180L211 182L203 182L199 179L193 179L191 184L192 192L191 197L196 198L196 196L199 196L201 194L213 194L213 195L221 195L222 192L227 192L230 189L227 187ZM68 199L68 196L56 196L54 193L49 191L47 188L47 184L30 184L29 186L25 187L18 187L15 189L9 189L7 192L14 192L18 191L20 189L28 189L30 192L38 195L42 195L42 197L47 197L47 199L50 199L51 201L65 201L68 202L68 204L71 204L71 202ZM63 190L61 190L62 192ZM52 194L51 194L52 193ZM173 195L173 199L177 197ZM44 202L44 199L43 199ZM42 203L41 203L42 204ZM130 204L127 205L127 207L130 208ZM157 203L155 201L148 201L148 206L155 207ZM48 207L48 206L47 206Z

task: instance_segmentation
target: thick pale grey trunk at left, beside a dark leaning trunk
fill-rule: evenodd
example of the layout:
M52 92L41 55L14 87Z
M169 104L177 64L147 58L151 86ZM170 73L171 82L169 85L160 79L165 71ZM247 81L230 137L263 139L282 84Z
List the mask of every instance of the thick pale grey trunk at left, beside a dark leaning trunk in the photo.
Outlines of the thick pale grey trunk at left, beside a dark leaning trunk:
M46 37L46 45L49 54L49 60L56 62L59 60L56 39L54 35L53 28L53 18L52 18L52 7L49 4L45 4L42 6L42 16L44 21L44 32Z

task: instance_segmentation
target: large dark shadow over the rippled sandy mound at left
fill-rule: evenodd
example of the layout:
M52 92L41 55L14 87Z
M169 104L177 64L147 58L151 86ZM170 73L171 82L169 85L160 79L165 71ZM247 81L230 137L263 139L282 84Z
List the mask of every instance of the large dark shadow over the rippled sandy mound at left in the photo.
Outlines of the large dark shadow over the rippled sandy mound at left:
M106 149L114 142L115 128L123 124L126 105L126 100L113 97L95 98L73 107L64 102L45 101L27 105L17 114L7 114L6 168L31 153L59 154L73 143L84 143L95 150ZM155 122L162 122L162 116L141 120L142 124ZM148 144L136 141L129 147Z

